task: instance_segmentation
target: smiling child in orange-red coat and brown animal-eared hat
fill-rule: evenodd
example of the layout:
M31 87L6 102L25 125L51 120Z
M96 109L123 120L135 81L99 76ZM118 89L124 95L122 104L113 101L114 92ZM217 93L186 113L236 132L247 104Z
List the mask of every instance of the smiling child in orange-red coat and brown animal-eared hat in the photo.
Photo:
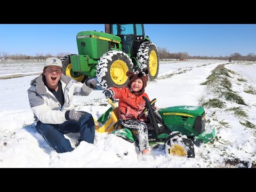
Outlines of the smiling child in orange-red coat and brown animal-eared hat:
M145 71L137 70L134 73L127 71L126 76L130 81L124 87L109 87L103 93L106 98L119 99L119 118L122 119L121 124L131 130L137 131L139 141L140 156L142 160L146 160L149 156L149 142L147 130L147 116L143 114L146 102L142 99L148 95L145 93L145 87L148 82L148 69ZM150 100L149 100L150 101Z

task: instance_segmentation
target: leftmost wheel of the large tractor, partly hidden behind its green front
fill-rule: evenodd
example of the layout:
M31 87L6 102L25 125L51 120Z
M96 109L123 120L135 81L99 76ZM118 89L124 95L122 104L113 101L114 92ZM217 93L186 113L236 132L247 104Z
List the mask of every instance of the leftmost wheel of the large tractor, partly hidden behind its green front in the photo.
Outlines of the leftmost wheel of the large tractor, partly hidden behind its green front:
M76 75L76 72L73 72L72 70L72 64L71 64L71 61L70 61L70 56L71 55L74 55L74 54L68 54L68 55L65 55L64 57L62 57L60 60L62 61L62 67L63 67L63 71L62 73L64 75L67 75L73 79L75 79L76 81L78 82L82 82L84 83L85 82L85 79L88 77L86 75Z

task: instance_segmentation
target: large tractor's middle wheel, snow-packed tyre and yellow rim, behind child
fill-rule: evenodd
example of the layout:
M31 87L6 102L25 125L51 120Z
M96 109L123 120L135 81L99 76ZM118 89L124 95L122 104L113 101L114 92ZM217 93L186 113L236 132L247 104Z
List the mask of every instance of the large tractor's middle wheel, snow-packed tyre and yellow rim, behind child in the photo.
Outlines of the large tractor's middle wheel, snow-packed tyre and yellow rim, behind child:
M120 87L129 82L127 71L133 71L133 63L129 56L122 51L111 50L100 58L96 76L103 89Z

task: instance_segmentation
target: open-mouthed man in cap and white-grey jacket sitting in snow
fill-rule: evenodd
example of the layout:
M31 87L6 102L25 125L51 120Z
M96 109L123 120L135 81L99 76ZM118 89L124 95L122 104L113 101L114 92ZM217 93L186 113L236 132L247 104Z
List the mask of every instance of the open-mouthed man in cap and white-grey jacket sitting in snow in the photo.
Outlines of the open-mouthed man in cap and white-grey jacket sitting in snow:
M94 142L95 127L90 113L75 111L71 104L73 95L89 95L97 81L87 78L77 82L62 74L60 59L47 58L43 73L33 79L28 89L30 108L34 113L37 131L57 153L73 151L67 133L81 134L79 142Z

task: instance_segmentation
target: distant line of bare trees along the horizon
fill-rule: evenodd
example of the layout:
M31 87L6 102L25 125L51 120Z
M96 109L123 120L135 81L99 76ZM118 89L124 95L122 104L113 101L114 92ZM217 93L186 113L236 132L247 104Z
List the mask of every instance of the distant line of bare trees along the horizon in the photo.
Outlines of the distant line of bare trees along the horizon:
M158 53L159 53L159 59L176 59L176 60L187 60L187 59L219 59L219 60L229 60L229 57L231 56L231 60L236 61L256 61L256 54L254 53L248 53L247 55L241 55L240 53L232 53L228 56L219 56L219 57L209 57L209 56L191 56L187 52L178 52L178 53L170 53L165 47L157 47ZM0 52L0 59L7 60L38 60L42 61L49 57L57 57L62 58L63 56L67 55L69 53L58 53L57 55L52 55L50 53L46 53L45 55L37 53L35 56L30 56L26 54L8 54L6 52Z

